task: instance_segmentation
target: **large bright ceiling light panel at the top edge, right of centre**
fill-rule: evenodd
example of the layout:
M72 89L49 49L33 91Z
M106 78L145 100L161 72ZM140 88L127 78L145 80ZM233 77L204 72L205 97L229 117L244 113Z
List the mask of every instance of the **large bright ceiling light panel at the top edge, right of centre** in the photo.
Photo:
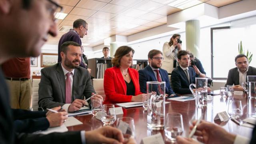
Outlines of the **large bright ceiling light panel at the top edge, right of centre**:
M200 0L172 0L172 2L167 5L184 10L186 8L189 8L201 3L202 1Z

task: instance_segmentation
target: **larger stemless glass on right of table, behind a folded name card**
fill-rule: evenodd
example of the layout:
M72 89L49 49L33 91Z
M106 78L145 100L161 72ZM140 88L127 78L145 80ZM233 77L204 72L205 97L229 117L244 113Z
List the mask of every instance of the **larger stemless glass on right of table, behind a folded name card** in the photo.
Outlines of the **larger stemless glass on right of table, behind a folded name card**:
M229 101L228 114L232 118L240 118L243 115L241 100L230 100Z

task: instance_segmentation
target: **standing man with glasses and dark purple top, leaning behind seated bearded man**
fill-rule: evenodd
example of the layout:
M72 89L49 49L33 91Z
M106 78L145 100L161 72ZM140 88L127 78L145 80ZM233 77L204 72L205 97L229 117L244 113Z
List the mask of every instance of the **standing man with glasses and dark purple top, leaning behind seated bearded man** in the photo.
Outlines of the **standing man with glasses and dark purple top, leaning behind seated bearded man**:
M88 24L86 23L85 20L82 19L77 19L73 22L73 29L70 29L69 32L66 34L63 34L60 38L59 44L58 44L58 62L61 62L61 57L60 57L60 46L64 42L72 41L76 42L79 45L82 45L82 41L80 38L84 38L85 35L87 35L88 32ZM89 72L91 72L90 68L87 68L86 64L82 62L80 66L83 68L86 68Z

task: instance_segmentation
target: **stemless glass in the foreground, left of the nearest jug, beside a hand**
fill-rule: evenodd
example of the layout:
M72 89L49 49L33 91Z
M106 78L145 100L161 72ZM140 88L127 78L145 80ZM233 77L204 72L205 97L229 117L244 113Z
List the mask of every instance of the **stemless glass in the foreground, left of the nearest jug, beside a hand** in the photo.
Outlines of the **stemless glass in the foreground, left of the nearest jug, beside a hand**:
M135 138L134 120L131 117L122 117L117 119L117 128L122 131L125 141L130 137Z

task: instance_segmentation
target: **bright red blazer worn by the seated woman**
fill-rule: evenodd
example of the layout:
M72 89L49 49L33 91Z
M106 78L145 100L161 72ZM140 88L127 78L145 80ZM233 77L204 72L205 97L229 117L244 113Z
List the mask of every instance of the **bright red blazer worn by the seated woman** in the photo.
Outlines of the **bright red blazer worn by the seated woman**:
M140 92L139 74L134 68L128 68L129 75L135 88L135 96L142 94ZM120 68L114 66L105 70L104 91L106 99L103 104L115 104L122 102L131 102L132 96L126 95L126 84Z

